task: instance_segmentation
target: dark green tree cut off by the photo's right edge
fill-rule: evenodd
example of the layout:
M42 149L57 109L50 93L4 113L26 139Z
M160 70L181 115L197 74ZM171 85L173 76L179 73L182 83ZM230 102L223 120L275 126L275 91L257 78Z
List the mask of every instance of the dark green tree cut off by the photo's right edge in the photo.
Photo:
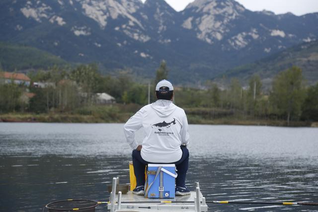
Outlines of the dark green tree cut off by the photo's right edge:
M303 120L318 121L318 83L308 89L302 111Z

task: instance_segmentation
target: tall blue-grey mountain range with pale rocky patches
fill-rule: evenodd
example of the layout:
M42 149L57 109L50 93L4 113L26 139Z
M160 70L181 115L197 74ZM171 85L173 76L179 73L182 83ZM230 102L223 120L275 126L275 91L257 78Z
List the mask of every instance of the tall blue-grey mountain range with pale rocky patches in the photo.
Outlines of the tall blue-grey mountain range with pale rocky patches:
M318 13L250 11L235 0L1 0L0 41L69 63L152 77L166 60L174 82L214 78L318 37ZM10 70L8 70L10 71Z

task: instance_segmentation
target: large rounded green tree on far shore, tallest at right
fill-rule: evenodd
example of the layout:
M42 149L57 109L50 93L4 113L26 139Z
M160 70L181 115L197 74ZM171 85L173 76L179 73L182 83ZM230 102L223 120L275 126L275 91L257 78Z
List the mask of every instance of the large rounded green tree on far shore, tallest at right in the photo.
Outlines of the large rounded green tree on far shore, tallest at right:
M292 67L275 77L270 95L271 103L278 114L287 116L288 125L290 120L300 117L305 94L300 68Z

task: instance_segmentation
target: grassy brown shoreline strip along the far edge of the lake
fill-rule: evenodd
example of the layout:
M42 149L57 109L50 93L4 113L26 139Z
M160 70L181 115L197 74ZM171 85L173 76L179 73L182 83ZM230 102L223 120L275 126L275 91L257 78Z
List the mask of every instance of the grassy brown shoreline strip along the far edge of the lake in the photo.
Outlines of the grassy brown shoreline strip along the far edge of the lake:
M114 117L98 117L93 115L78 115L68 113L9 113L0 114L0 122L3 123L125 123L133 114L119 113ZM285 120L248 119L238 117L226 117L218 119L204 119L188 115L189 124L202 125L241 125L241 126L273 126L273 127L315 127L318 122L293 121L287 126Z

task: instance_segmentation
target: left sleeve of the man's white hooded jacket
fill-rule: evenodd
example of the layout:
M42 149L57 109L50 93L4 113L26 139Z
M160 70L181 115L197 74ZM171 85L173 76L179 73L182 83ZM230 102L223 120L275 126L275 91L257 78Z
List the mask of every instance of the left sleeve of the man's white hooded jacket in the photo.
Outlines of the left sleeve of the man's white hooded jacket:
M134 116L132 116L124 125L124 134L127 142L132 149L138 147L138 143L135 140L135 132L142 127L143 112L139 110Z

